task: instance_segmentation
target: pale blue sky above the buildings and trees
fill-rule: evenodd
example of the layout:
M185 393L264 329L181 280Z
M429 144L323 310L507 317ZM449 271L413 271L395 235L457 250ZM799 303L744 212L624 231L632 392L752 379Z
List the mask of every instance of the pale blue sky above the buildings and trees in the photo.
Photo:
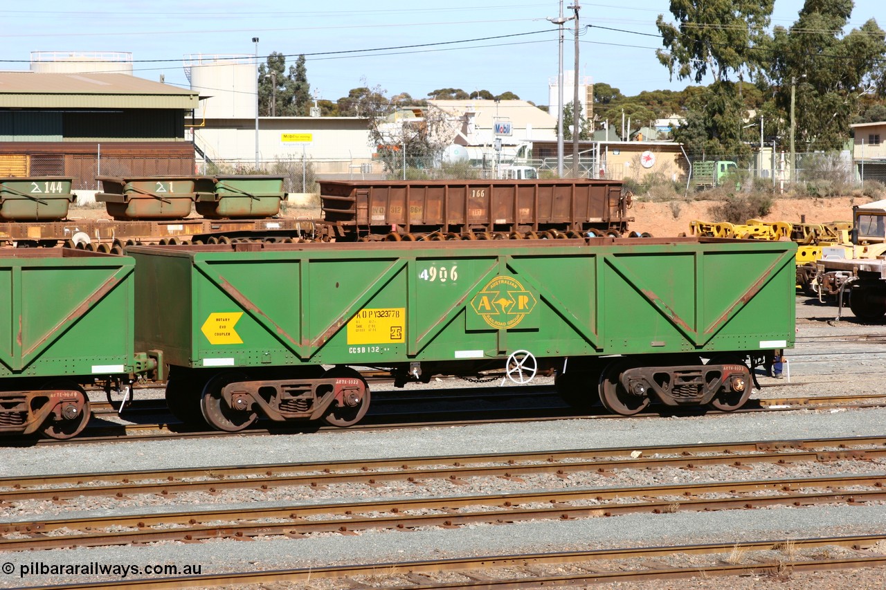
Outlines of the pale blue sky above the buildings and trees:
M604 0L605 1L605 0ZM4 3L11 6L12 3ZM326 7L304 0L42 0L36 10L0 10L0 69L27 70L32 51L132 53L134 74L188 88L183 58L191 54L250 55L272 51L307 59L307 81L320 99L335 101L369 86L392 96L426 98L435 89L511 91L548 105L558 69L558 0L338 0ZM563 2L565 16L571 16ZM672 20L668 0L580 2L579 74L627 96L682 89L658 63L655 22ZM772 24L789 27L803 0L775 0ZM886 27L886 3L856 0L850 25L874 18ZM563 69L574 69L574 34L566 23ZM710 83L706 81L705 83ZM569 97L566 98L569 100Z

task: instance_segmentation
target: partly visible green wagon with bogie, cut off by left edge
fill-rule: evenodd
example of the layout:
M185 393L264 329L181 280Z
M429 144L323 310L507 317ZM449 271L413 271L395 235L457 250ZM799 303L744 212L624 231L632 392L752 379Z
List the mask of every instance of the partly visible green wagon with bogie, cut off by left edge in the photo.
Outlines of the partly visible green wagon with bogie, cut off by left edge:
M0 433L68 439L83 385L143 371L133 352L135 260L67 248L0 250Z

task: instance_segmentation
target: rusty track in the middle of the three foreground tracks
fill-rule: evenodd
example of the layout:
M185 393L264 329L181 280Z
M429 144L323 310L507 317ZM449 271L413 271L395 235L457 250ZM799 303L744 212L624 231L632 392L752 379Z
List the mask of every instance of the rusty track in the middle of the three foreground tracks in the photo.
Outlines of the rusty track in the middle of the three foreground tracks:
M886 474L878 476L809 477L754 481L732 481L689 485L646 485L635 487L550 490L528 493L499 493L447 498L414 498L382 501L335 502L286 507L190 510L161 514L112 515L14 522L4 525L7 534L27 537L0 540L0 550L22 551L58 547L99 547L167 540L208 540L284 535L298 538L316 532L355 532L369 529L408 530L418 527L457 527L464 524L509 524L534 519L572 520L638 512L667 514L683 510L706 511L770 506L809 506L886 500ZM873 490L845 488L870 487ZM819 490L828 488L827 492ZM771 495L737 495L775 492ZM697 498L702 494L732 494L727 498ZM625 502L626 498L667 498ZM674 500L673 498L679 498ZM568 506L567 503L609 500L609 503ZM540 508L520 508L540 504ZM458 513L459 508L489 507ZM431 514L410 514L431 511ZM383 516L359 516L378 514ZM308 517L327 516L326 519ZM272 522L259 522L275 519ZM284 521L284 522L281 522ZM200 523L216 524L200 524ZM221 524L217 524L221 523ZM153 525L181 527L153 529ZM99 529L133 527L137 530L101 532ZM185 528L186 527L186 528ZM46 533L90 531L44 536ZM91 532L95 531L95 532Z

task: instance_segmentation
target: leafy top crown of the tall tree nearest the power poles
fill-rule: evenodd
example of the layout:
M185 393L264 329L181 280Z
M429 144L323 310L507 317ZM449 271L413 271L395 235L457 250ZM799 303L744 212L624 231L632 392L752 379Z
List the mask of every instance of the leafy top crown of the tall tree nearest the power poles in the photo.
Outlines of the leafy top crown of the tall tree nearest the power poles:
M676 24L656 20L664 50L658 61L673 77L702 82L709 72L714 81L727 80L730 71L759 65L754 48L766 42L765 28L773 12L773 0L671 0Z

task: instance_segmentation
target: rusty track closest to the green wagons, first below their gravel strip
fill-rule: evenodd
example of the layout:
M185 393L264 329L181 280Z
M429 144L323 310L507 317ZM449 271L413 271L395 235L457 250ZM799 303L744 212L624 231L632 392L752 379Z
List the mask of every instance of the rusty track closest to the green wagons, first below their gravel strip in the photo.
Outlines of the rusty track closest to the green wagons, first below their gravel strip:
M864 446L870 448L859 448ZM822 450L833 448L838 450ZM657 456L663 454L673 456ZM0 477L0 501L58 501L78 496L168 494L247 487L266 489L282 485L375 484L378 481L488 475L512 477L544 472L564 474L575 471L691 468L722 464L740 467L761 462L870 461L884 455L886 437L857 437L130 470ZM198 477L204 480L194 479ZM188 481L184 481L185 479ZM45 486L53 487L46 489Z

